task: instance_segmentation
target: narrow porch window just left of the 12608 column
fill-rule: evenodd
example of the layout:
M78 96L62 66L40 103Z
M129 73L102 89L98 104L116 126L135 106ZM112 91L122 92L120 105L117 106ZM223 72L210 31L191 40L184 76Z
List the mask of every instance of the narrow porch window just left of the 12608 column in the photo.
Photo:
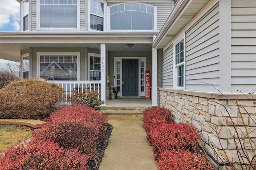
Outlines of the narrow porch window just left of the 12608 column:
M89 53L90 80L100 80L100 55Z

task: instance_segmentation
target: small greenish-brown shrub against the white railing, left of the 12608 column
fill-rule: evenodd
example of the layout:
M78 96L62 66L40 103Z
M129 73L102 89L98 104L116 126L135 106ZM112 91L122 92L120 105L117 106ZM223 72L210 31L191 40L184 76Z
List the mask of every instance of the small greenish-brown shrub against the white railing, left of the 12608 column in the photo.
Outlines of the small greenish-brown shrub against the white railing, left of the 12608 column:
M96 107L104 104L104 101L99 99L98 92L92 92L86 90L86 92L80 91L79 93L74 93L72 96L72 103L76 105L86 105L89 107Z

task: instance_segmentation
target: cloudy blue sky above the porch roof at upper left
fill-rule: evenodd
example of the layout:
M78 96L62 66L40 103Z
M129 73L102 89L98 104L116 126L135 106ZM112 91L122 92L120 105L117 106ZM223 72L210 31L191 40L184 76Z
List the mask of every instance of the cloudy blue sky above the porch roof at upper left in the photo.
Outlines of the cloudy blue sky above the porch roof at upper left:
M16 0L0 0L0 27L10 23L10 17L12 17L13 24L19 23L20 3Z

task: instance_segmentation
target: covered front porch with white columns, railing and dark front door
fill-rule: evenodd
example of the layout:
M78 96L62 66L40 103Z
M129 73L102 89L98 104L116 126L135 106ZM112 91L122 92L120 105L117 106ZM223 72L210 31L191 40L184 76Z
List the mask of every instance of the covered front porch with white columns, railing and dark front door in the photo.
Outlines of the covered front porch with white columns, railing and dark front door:
M0 41L0 58L8 59L8 57L6 58L8 51L15 51L15 54L9 53L9 56L16 57L17 61L21 61L22 75L44 78L59 84L65 90L66 102L68 98L72 97L74 89L76 92L90 89L100 93L99 98L105 101L104 106L102 106L103 109L105 107L111 109L111 107L127 108L129 106L145 109L146 107L157 106L157 50L151 46L156 32L101 34L40 32L32 34L33 38L24 32L0 34L0 40L3 40ZM64 58L65 56L72 56L72 65L65 66L63 64L64 66L62 66L62 63L59 64L60 59L64 61L62 56ZM46 59L51 57L53 57L53 61L49 59L46 62ZM57 61L55 60L56 57L58 58ZM92 64L95 65L90 61L91 58L97 58L96 71L90 68ZM128 64L122 65L125 62ZM137 91L130 95L130 91L126 94L122 91L127 81L127 79L124 80L126 70L122 67L126 68L133 62L136 63L137 67L135 72ZM143 69L141 68L142 64ZM76 70L72 68L75 65L77 66ZM25 66L26 69L24 69ZM66 68L69 70L65 70ZM151 72L149 87L151 99L149 100L145 100L146 70ZM55 73L58 73L58 78L56 78ZM130 75L134 75L133 70ZM62 80L66 77L70 77L70 80ZM109 82L107 82L107 77L110 77ZM113 92L113 89L118 91L116 92L118 99L109 100L110 92ZM144 100L147 102L145 103Z

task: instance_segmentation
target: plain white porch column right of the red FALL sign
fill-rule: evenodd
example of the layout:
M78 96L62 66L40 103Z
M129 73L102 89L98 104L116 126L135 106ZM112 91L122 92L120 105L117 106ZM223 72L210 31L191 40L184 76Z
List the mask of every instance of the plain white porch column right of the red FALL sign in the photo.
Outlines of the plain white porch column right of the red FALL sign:
M157 49L152 48L152 106L157 104Z

